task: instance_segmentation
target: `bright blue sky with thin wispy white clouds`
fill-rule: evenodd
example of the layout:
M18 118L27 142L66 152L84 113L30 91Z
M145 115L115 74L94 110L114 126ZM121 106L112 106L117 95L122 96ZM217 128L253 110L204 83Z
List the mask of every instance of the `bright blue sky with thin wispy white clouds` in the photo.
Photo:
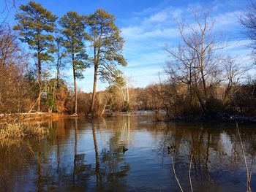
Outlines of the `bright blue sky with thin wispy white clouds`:
M10 0L11 1L11 0ZM246 9L246 0L35 0L61 17L68 11L81 15L89 15L98 8L105 9L116 16L116 26L121 29L121 37L125 40L123 55L127 66L120 67L132 87L146 87L164 78L163 69L169 59L165 47L177 47L181 42L177 30L177 22L193 25L193 12L210 12L214 20L214 33L221 34L227 41L222 50L240 63L252 62L249 40L243 34L244 28L238 18ZM16 7L28 1L18 0ZM4 0L0 0L3 9ZM10 8L7 22L14 25L15 11ZM0 15L4 18L7 13ZM78 80L78 88L91 92L93 87L93 67L86 69L85 78ZM72 70L65 69L64 76L72 86ZM104 90L108 84L99 81L97 90Z

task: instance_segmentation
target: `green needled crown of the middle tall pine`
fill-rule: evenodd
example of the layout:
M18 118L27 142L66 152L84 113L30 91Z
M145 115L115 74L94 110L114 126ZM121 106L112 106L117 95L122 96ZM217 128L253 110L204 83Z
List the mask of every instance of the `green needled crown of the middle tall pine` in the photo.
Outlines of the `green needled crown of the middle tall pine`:
M82 78L83 69L89 66L84 43L87 37L85 32L86 18L78 15L77 12L67 12L59 20L59 24L62 27L60 31L63 35L61 42L67 50L67 55L72 60L75 77Z

